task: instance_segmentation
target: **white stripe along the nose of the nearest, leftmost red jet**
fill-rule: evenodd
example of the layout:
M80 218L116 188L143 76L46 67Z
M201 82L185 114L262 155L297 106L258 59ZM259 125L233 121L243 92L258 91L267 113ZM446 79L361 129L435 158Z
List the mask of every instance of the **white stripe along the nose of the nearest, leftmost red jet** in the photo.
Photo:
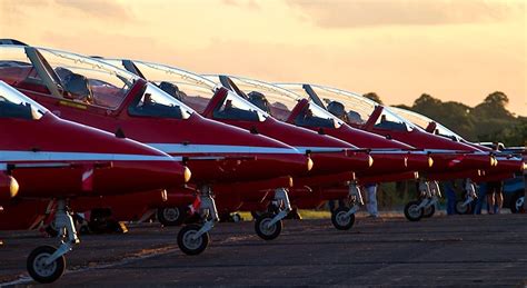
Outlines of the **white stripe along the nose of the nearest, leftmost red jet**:
M88 153L0 150L0 161L181 161L181 157L129 155L129 153Z

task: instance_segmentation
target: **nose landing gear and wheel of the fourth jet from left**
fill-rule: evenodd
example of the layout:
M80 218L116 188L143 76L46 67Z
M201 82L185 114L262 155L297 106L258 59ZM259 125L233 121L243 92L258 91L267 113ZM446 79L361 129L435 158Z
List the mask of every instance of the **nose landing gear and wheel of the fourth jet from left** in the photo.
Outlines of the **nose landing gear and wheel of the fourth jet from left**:
M360 206L364 205L360 188L357 182L349 185L348 203L349 207L340 206L335 211L331 211L331 224L338 230L349 230L355 224L355 213L359 210Z

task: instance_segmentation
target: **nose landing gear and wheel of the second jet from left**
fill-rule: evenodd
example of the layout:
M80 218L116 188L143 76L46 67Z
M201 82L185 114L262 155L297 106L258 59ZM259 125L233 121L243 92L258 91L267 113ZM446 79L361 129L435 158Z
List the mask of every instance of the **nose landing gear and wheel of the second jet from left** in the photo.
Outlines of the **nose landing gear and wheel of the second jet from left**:
M216 202L209 186L200 187L199 213L202 225L187 225L178 234L178 246L186 255L199 255L210 242L209 231L219 220Z

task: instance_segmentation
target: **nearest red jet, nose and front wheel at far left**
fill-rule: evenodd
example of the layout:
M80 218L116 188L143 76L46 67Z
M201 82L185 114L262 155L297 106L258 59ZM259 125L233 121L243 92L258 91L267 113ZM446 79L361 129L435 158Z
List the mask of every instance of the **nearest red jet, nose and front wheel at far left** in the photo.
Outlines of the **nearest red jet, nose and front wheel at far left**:
M0 81L0 206L9 210L12 201L24 199L57 203L54 224L62 244L58 249L38 247L28 257L28 271L39 282L57 280L64 271L64 255L79 244L67 207L70 198L182 186L190 173L176 160L139 142L61 120Z

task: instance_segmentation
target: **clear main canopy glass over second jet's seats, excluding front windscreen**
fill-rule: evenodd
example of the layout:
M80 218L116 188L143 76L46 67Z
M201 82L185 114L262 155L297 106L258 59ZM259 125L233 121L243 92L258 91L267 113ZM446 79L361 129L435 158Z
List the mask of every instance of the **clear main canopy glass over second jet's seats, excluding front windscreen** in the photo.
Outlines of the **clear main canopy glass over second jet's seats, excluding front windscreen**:
M1 46L8 83L106 109L118 108L137 77L97 59L46 48Z

